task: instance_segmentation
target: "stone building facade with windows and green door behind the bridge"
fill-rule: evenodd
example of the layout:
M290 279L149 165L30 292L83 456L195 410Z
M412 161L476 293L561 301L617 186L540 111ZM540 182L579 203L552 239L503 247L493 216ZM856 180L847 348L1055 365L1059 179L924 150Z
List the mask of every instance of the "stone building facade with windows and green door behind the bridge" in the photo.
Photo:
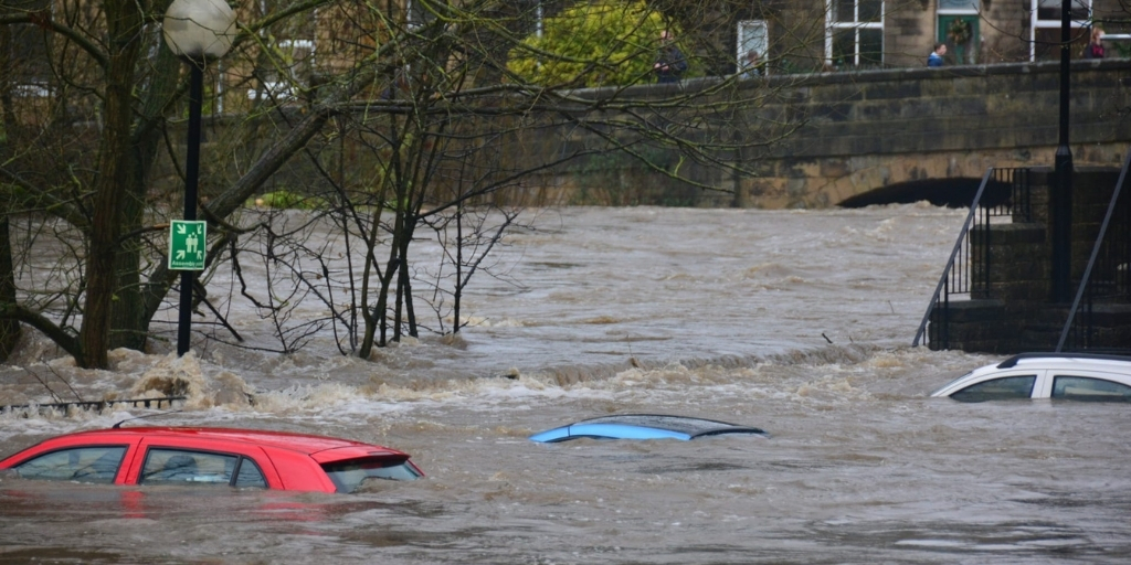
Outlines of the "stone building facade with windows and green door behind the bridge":
M1128 56L1131 12L1120 0L1069 0L1071 54L1106 32L1107 56ZM1061 0L815 0L748 9L735 25L736 58L749 46L780 71L923 67L935 43L947 66L1060 58ZM819 21L819 25L805 23ZM819 41L813 41L817 33ZM774 67L774 66L771 66Z

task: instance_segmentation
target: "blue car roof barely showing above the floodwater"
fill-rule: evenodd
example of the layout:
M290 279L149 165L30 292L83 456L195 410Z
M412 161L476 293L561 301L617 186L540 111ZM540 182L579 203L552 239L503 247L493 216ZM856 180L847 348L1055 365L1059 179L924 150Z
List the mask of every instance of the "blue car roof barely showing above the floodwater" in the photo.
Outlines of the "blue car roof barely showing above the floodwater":
M726 421L659 414L622 414L580 420L530 436L535 442L553 443L593 437L605 440L694 440L709 435L752 434L769 437L766 431Z

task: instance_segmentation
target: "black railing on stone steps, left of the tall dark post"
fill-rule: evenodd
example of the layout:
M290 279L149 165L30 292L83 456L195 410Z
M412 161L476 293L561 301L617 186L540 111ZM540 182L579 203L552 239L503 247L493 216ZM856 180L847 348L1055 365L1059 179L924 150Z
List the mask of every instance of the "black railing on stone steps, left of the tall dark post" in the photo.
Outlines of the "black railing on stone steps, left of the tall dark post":
M1012 221L1033 221L1031 191L1029 190L1028 168L994 168L986 169L982 176L970 202L970 211L958 233L958 241L950 252L947 267L942 270L939 285L934 289L931 303L923 314L923 322L912 347L926 345L931 341L927 334L927 323L936 308L940 310L935 339L941 349L950 346L950 297L956 294L969 295L972 298L992 298L993 264L990 254L990 218L1009 216ZM981 240L973 245L973 236Z

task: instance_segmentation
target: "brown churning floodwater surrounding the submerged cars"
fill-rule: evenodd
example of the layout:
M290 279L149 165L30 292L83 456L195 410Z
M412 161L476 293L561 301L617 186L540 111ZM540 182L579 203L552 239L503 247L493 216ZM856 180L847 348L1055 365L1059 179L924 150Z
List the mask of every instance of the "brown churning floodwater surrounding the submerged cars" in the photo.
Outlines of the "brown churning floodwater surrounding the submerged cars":
M180 379L183 410L143 421L380 443L428 478L313 495L0 476L0 562L1126 563L1125 406L927 398L999 359L910 347L964 217L529 210L473 279L473 325L374 360L327 334L285 358L195 344L81 371L28 339L0 405ZM269 344L253 312L232 315ZM0 453L156 412L2 414ZM772 437L527 440L621 412Z

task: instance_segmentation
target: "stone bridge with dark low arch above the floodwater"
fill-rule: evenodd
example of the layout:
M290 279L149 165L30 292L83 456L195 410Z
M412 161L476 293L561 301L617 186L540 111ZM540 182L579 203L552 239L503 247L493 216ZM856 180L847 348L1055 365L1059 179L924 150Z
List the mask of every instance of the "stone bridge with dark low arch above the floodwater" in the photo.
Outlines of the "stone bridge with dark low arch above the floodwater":
M800 116L803 125L768 153L740 157L756 175L699 166L689 175L722 189L702 191L590 164L571 175L543 176L537 186L527 185L527 195L757 208L959 205L969 202L987 167L1052 165L1056 151L1059 62L771 76L750 87L760 81L782 93L762 111ZM1070 92L1074 164L1119 166L1131 150L1131 60L1073 61ZM582 169L594 176L578 176ZM619 193L616 186L595 188L610 180L620 184Z

